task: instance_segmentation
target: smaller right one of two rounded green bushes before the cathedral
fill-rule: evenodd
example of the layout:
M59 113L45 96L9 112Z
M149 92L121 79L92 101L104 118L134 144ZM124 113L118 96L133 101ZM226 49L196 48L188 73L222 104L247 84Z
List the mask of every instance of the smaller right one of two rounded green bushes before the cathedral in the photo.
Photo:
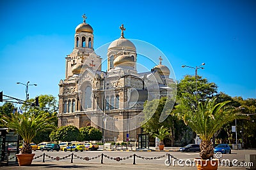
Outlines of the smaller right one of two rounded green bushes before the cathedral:
M100 141L102 139L102 132L95 127L81 127L79 131L83 141Z

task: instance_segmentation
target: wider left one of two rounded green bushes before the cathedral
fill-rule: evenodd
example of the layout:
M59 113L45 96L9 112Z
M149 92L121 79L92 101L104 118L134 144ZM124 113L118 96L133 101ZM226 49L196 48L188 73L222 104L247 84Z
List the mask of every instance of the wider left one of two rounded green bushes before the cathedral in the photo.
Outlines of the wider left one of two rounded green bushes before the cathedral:
M51 141L81 141L81 134L74 125L67 125L52 131L50 139Z

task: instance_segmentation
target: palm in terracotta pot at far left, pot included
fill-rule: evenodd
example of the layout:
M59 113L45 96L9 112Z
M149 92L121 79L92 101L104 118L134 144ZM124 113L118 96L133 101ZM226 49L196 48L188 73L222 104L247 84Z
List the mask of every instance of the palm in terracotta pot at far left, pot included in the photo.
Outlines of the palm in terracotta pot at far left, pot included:
M53 127L51 124L52 117L47 117L46 114L40 114L36 117L28 113L19 114L15 112L10 117L3 116L2 122L9 129L14 129L23 139L23 147L20 150L20 154L16 155L19 166L31 165L35 153L32 153L29 143L35 138L37 132Z

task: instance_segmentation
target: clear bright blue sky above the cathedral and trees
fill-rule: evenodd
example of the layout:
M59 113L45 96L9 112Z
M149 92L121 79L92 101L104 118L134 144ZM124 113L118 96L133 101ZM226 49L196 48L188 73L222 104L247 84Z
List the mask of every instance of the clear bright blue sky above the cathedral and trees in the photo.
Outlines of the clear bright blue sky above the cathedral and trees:
M0 1L0 90L24 99L25 87L16 82L30 81L38 84L29 87L31 98L57 97L83 13L93 27L95 49L119 38L124 24L125 38L147 41L168 57L177 80L195 74L182 65L205 62L198 74L219 92L256 98L253 0Z

